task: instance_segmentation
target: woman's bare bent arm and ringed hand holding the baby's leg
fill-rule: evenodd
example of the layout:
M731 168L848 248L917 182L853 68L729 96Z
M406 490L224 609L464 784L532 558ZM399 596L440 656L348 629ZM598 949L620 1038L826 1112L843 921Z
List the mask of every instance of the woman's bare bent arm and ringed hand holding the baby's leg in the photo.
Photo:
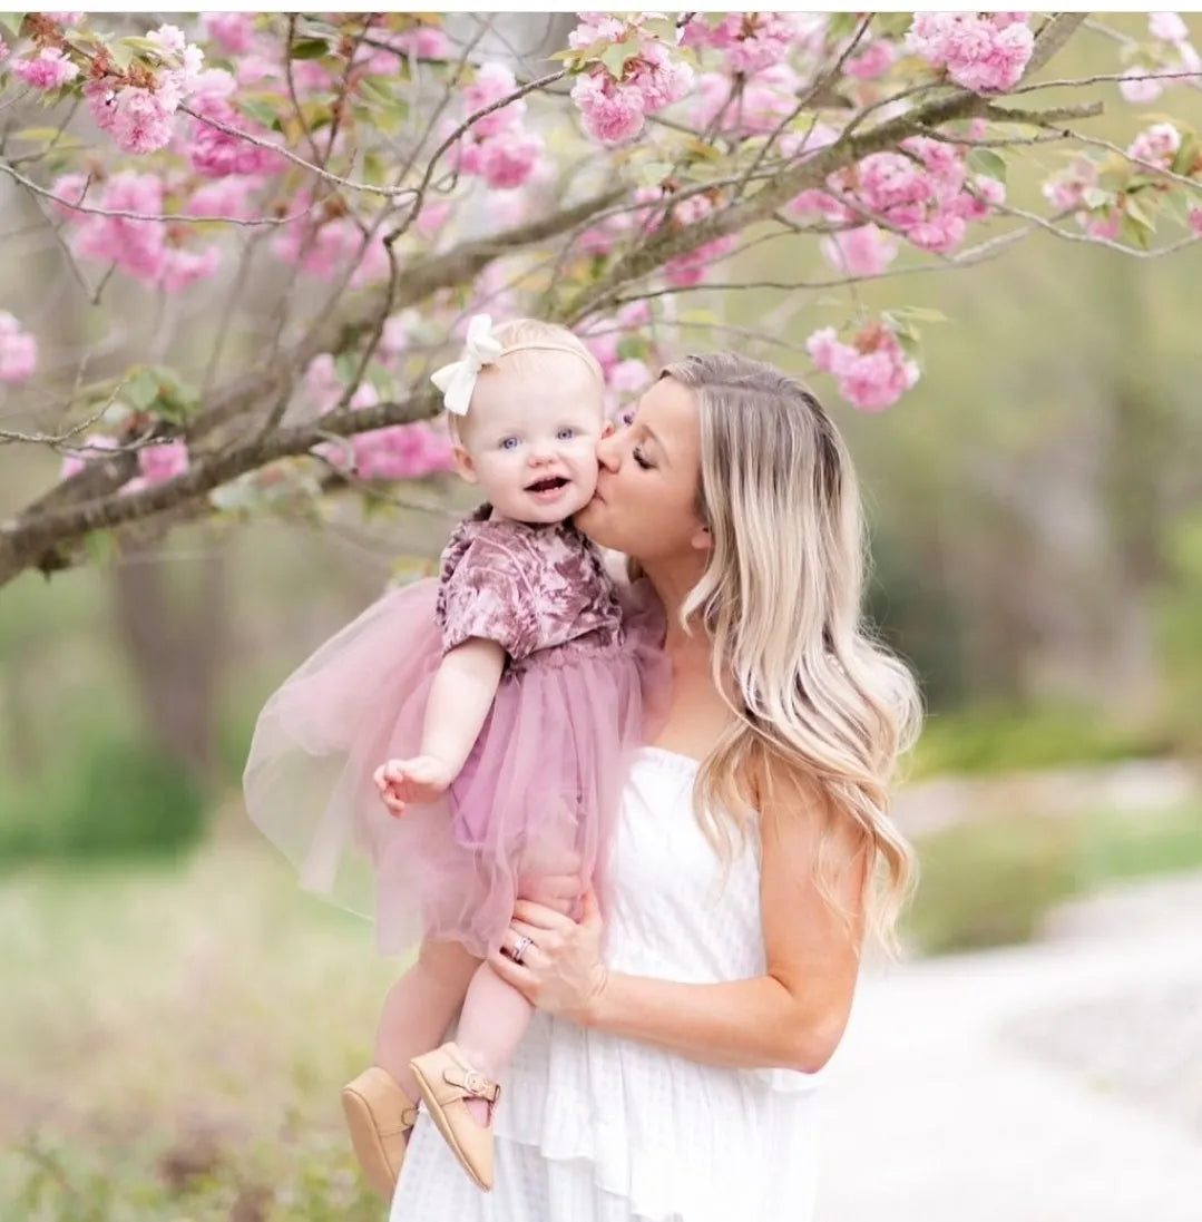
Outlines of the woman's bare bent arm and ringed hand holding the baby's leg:
M845 912L837 912L812 879L820 835L812 802L800 810L765 813L761 976L693 985L607 971L595 902L579 926L553 920L558 914L539 906L518 904L513 932L535 945L524 965L495 954L494 967L536 1006L581 1025L712 1064L812 1073L831 1058L850 1014L866 868L856 841L840 837L834 849L849 868L836 891Z

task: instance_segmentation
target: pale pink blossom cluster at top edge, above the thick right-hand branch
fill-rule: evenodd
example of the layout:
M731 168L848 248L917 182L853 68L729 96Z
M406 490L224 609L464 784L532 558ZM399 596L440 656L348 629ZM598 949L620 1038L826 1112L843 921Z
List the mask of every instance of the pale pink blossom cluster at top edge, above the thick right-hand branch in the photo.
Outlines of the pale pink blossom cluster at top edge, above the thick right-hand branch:
M974 93L1019 83L1035 49L1025 12L916 12L906 49Z

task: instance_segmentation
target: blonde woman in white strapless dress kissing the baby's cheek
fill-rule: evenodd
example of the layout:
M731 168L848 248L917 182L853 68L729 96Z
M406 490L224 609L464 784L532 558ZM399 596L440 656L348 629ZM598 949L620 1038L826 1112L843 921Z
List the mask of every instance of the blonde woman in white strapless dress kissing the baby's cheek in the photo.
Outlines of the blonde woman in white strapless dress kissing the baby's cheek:
M605 920L591 895L579 924L520 902L492 960L542 1012L492 1193L423 1118L392 1222L812 1217L815 1074L910 875L886 805L915 688L861 631L855 479L806 390L689 357L629 420L577 522L662 601L671 709L623 793Z

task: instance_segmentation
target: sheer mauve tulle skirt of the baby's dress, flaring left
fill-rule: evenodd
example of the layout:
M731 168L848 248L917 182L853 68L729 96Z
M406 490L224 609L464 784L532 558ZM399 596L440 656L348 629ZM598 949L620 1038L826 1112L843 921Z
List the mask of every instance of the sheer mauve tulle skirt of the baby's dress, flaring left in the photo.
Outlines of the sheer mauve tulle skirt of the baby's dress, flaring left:
M417 755L442 657L437 582L386 594L322 645L259 716L243 786L302 885L374 915L399 954L421 938L484 956L529 880L575 873L605 892L630 753L662 701L654 620L622 645L585 640L506 667L475 747L442 800L402 818L371 776Z

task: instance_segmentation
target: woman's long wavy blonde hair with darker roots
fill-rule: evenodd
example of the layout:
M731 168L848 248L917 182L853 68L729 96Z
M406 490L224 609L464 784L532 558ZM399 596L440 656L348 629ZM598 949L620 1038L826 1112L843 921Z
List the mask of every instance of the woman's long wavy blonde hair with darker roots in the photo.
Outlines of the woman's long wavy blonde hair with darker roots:
M889 819L889 782L917 737L921 704L909 668L861 617L867 540L850 456L822 404L762 362L690 356L661 376L696 397L698 510L712 538L682 622L705 624L715 683L737 715L702 764L698 818L729 855L763 786L793 782L825 819L822 893L834 902L839 873L854 864L836 849L851 832L867 854L867 931L892 949L915 859Z

